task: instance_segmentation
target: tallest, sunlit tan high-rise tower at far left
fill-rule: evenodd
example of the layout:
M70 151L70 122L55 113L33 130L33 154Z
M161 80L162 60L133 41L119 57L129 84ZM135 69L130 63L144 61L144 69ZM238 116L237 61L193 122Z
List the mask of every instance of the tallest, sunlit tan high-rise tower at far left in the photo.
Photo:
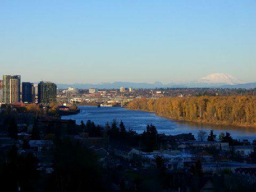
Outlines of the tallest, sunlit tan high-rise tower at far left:
M3 103L20 102L20 75L3 75Z

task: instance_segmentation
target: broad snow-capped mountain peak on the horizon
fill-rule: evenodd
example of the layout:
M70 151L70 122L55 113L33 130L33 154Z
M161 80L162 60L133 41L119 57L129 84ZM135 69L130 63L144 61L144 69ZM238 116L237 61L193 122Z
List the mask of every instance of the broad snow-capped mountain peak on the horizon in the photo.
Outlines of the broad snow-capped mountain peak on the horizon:
M228 84L228 85L235 85L235 84L242 84L245 83L238 78L234 77L230 74L223 74L223 73L214 73L207 75L199 79L199 83L207 83L207 84Z

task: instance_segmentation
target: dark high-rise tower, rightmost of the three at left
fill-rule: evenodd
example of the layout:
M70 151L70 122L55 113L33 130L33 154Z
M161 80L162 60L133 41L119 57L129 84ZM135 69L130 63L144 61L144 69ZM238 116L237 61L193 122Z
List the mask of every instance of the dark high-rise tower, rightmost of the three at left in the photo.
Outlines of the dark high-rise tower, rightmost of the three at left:
M57 86L51 82L38 83L38 103L56 102Z

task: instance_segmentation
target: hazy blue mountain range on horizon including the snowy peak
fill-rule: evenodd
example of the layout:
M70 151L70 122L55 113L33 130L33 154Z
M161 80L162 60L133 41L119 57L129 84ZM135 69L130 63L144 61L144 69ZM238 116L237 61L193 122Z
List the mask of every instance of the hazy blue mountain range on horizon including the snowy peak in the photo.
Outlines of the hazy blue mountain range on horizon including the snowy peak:
M230 74L215 73L202 77L194 82L183 83L132 83L132 82L114 82L99 84L57 84L59 89L67 89L68 87L76 87L77 89L90 89L92 87L98 89L119 89L120 87L133 87L133 89L155 89L155 88L181 88L181 87L221 87L221 88L243 88L252 89L256 87L256 83L246 83Z

